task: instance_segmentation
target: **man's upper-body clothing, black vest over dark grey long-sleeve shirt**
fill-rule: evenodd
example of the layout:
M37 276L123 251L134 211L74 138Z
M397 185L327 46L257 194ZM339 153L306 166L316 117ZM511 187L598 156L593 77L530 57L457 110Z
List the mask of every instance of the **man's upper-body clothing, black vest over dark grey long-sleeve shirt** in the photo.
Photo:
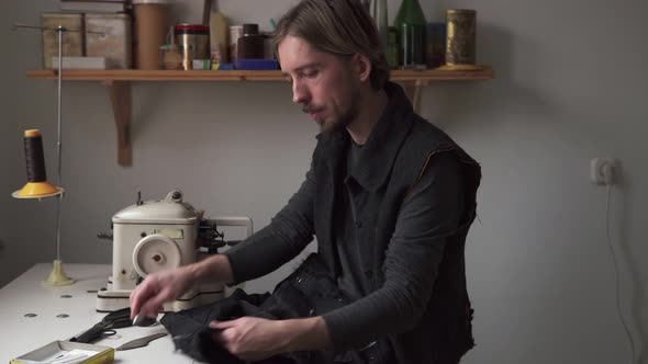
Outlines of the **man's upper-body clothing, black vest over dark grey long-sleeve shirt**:
M317 236L322 261L356 298L323 315L336 350L389 335L400 362L457 362L473 345L463 246L480 168L414 114L399 86L384 90L389 104L350 168L342 168L347 132L319 136L288 205L226 254L243 282L290 261Z

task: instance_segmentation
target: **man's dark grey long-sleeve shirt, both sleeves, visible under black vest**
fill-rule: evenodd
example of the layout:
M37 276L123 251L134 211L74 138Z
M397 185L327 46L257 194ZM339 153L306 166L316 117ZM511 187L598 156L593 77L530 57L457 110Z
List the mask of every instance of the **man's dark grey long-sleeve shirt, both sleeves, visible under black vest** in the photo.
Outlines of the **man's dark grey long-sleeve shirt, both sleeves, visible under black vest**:
M354 160L361 163L362 156ZM379 198L354 179L353 171L354 166L349 166L345 197L336 208L340 224L336 240L342 288L357 300L324 315L336 349L357 348L376 338L404 332L418 321L434 287L445 238L457 228L463 206L459 162L453 153L440 153L401 206L386 253L384 285L368 292L361 284L367 272L359 264L359 247L372 243ZM271 225L226 253L236 281L271 272L312 240L312 211L308 208L313 208L313 175L312 171L306 173L306 181Z

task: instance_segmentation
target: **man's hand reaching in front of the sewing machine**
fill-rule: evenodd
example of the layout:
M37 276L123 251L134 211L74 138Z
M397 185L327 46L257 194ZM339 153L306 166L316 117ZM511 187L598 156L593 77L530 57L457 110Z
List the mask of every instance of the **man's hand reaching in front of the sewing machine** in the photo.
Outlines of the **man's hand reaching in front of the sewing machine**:
M153 273L131 293L131 318L157 317L163 304L185 294L192 284L188 266Z

